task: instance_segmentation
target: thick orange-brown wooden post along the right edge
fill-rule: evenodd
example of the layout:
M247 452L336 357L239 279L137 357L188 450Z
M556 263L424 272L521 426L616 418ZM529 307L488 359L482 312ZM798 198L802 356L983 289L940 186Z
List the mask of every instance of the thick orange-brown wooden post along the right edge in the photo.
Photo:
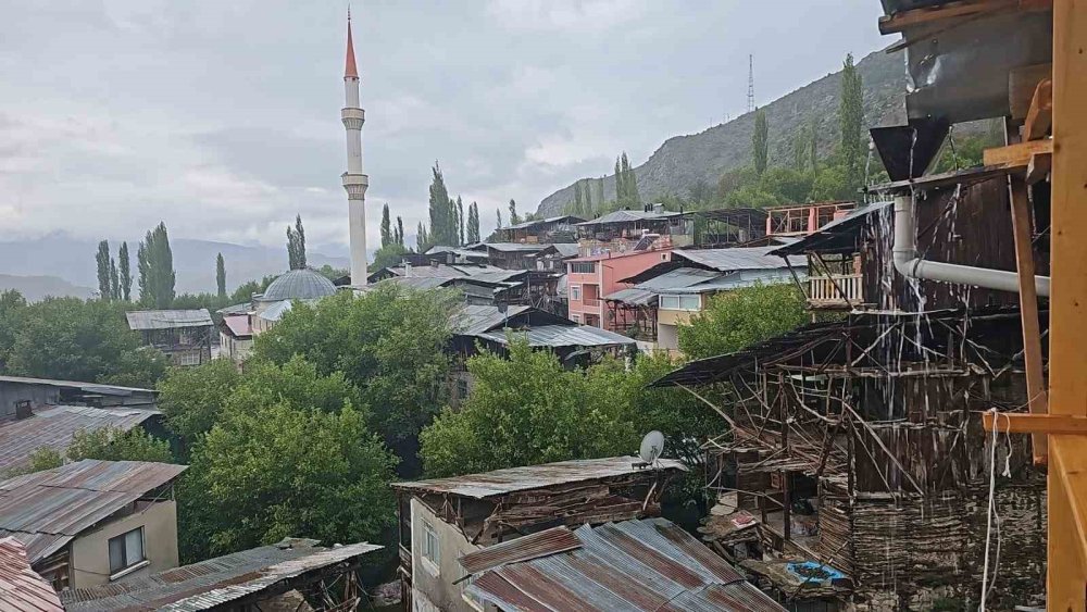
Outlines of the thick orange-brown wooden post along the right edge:
M1049 399L1055 414L1087 415L1087 0L1053 2L1052 280ZM1083 539L1072 494L1060 473L1065 453L1082 458L1074 436L1050 436L1048 474L1049 610L1085 610ZM1082 461L1080 461L1082 463ZM1083 495L1084 491L1078 491ZM1082 509L1080 509L1082 510Z

